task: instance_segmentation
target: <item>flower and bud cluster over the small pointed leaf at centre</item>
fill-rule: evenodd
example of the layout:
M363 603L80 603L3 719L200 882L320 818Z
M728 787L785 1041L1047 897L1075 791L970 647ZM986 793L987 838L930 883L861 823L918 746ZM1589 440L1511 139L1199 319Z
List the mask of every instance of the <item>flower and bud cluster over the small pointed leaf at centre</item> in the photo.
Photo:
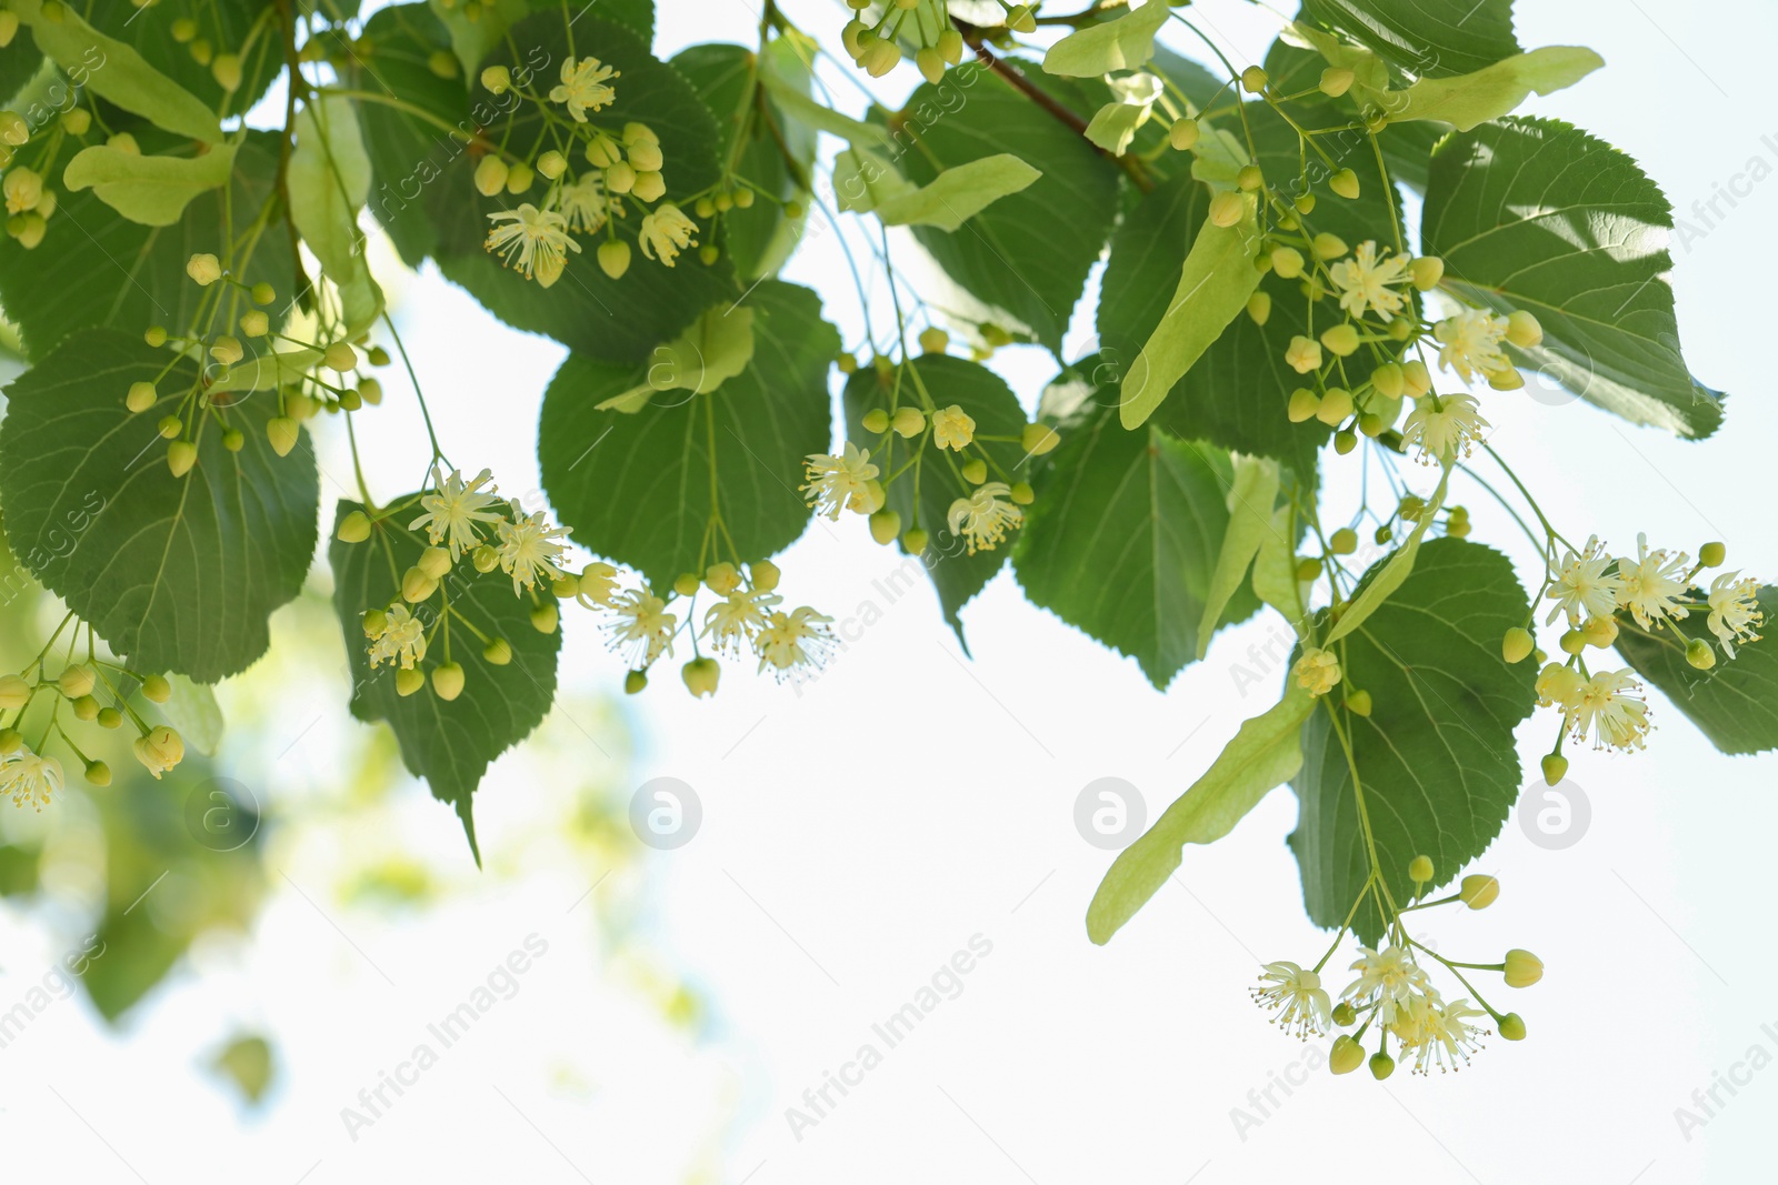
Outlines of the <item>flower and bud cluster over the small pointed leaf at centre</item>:
M926 354L942 354L949 345L941 329L921 334ZM857 361L841 359L843 370L855 371ZM800 487L809 506L829 519L841 512L868 515L871 537L878 544L901 540L901 547L919 556L930 544L928 528L919 522L919 499L914 522L901 522L901 513L887 506L889 487L894 481L937 481L955 490L944 515L949 537L960 540L967 554L994 551L1006 542L1010 531L1024 522L1024 506L1035 499L1029 481L989 480L1012 474L987 444L1017 444L1026 457L1040 457L1061 437L1044 423L1026 425L1017 437L981 435L976 419L958 403L937 407L919 380L919 362L905 361L900 368L889 359L877 359L877 377L885 389L887 405L873 407L859 419L864 435L875 437L871 448L846 441L839 453L811 453L804 464ZM903 380L917 393L917 402L903 402ZM896 446L903 449L896 458ZM990 469L992 465L992 469Z

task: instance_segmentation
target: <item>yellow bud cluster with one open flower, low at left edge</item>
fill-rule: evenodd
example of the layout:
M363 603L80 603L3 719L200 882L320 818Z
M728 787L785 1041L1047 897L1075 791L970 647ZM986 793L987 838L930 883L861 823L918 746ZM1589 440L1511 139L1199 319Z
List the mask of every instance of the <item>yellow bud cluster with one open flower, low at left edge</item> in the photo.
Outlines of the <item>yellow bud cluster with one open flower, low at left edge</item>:
M75 624L73 631L75 641L82 629L89 632L87 661L68 661L53 679L44 673L44 657L73 620L73 615L62 618L43 652L23 672L0 675L0 798L11 798L14 807L28 803L43 810L66 787L62 762L48 755L52 741L60 741L73 753L91 785L110 785L110 766L82 752L68 730L64 711L76 723L94 725L103 732L132 725L137 732L132 752L156 778L185 760L180 734L148 721L132 702L132 691L139 689L149 704L165 704L172 698L172 684L164 675L140 675L98 657L89 625ZM36 732L36 743L27 743L27 730Z

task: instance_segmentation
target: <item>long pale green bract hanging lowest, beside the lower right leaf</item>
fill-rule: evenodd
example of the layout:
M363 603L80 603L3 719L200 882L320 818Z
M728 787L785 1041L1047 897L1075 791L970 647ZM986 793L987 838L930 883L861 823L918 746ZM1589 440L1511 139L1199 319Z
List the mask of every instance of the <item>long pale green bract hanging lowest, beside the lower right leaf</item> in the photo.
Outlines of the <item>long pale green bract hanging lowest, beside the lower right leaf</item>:
M1303 764L1303 721L1316 711L1291 684L1284 698L1241 725L1227 748L1154 826L1118 853L1086 906L1086 936L1104 945L1149 903L1184 858L1186 844L1211 844L1246 817Z

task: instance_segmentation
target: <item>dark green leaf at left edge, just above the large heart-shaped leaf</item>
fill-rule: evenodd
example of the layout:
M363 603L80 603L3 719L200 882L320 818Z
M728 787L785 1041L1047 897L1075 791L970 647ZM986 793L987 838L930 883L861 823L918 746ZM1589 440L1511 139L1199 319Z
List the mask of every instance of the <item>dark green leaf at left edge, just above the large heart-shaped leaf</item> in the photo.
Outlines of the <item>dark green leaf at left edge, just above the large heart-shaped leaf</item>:
M146 126L130 130L144 151L174 146L172 137ZM25 251L11 236L0 238L0 300L20 327L30 357L43 357L68 334L92 325L112 325L132 336L149 325L169 330L188 325L213 290L194 284L185 275L185 261L197 251L224 254L224 211L233 217L236 242L252 240L260 206L270 195L276 176L277 139L252 131L235 153L229 201L224 203L224 190L203 192L174 226L128 222L96 194L84 190L62 195L36 251ZM290 243L281 217L258 235L242 281L265 281L281 297L290 297ZM233 316L247 307L238 290L224 300Z

